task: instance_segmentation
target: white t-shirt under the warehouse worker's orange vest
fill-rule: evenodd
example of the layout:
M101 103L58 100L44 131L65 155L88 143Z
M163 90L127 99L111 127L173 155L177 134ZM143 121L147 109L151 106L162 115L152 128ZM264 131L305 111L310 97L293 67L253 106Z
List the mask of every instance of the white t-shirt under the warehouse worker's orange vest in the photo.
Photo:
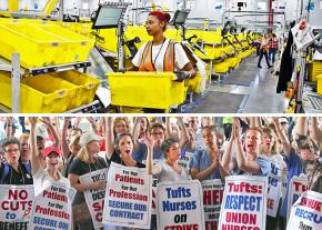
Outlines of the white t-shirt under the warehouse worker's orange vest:
M170 39L165 39L163 46L162 46L162 43L158 44L158 46L152 46L152 62L154 62L154 60L155 60L155 63L153 63L153 64L154 64L158 72L163 71L163 59L164 59L169 42L170 42ZM132 59L132 63L138 68L140 67L140 63L142 61L142 54L144 52L145 46L147 46L147 43L144 43L139 49L135 57ZM162 50L160 50L161 48L162 48ZM175 43L174 44L174 70L177 71L177 70L183 69L184 66L189 62L190 61L189 61L183 48L181 47L181 44Z

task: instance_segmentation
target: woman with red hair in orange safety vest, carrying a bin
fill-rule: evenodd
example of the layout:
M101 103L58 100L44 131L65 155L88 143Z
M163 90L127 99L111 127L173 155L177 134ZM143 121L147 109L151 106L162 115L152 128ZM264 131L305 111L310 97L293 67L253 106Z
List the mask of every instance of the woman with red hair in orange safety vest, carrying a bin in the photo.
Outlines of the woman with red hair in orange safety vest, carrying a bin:
M169 13L152 11L145 22L147 32L153 40L143 44L132 60L139 71L182 71L179 78L193 78L195 71L180 43L167 39L163 32L170 21Z

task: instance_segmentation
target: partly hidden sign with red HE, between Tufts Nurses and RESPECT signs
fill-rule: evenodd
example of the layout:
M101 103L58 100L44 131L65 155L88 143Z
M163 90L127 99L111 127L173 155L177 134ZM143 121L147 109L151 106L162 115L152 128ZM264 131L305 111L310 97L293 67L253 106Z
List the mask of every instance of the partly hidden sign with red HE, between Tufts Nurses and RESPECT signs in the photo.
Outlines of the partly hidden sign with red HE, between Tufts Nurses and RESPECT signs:
M203 191L203 208L205 230L218 229L220 207L223 197L221 180L204 180L201 182Z

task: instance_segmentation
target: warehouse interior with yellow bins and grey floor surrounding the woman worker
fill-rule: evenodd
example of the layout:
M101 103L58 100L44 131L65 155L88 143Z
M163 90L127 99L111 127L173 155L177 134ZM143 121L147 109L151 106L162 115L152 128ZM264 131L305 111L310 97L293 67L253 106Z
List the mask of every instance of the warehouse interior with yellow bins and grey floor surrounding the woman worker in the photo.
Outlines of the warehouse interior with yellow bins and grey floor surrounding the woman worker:
M151 11L171 16L164 37L194 78L129 70ZM321 0L2 0L0 111L319 113L321 13Z

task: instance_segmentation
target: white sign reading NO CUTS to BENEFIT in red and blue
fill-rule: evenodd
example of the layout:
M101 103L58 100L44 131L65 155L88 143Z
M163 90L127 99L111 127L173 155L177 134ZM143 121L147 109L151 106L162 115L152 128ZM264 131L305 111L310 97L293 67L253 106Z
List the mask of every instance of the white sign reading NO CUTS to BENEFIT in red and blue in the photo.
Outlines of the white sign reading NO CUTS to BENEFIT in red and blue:
M33 186L1 184L0 230L27 230L33 199Z

